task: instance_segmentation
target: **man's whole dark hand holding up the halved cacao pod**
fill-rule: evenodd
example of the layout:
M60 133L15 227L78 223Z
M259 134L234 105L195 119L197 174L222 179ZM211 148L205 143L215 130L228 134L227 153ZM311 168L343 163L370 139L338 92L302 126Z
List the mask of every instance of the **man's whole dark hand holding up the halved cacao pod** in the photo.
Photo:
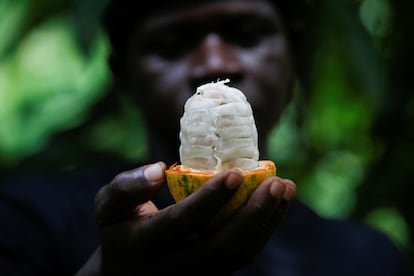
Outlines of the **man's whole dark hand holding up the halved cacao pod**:
M262 249L296 191L290 180L268 178L234 217L211 228L241 184L240 171L221 172L158 210L150 200L165 184L164 171L159 162L123 172L97 194L101 247L91 261L103 275L229 273Z

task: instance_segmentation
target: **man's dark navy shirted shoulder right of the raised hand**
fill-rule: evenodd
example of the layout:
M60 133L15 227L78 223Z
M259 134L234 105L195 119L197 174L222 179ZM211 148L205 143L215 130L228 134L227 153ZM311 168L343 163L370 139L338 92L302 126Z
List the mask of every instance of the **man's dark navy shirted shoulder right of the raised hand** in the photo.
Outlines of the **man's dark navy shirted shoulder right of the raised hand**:
M382 233L318 216L295 202L257 267L265 275L414 275L408 260Z

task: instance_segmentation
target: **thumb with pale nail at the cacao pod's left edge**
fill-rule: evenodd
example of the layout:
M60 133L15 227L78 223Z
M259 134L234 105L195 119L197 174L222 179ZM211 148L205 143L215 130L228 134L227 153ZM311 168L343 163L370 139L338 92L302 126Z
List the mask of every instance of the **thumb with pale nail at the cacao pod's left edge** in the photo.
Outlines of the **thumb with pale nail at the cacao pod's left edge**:
M165 181L163 162L122 172L97 193L95 209L100 226L135 215L136 207L149 201Z

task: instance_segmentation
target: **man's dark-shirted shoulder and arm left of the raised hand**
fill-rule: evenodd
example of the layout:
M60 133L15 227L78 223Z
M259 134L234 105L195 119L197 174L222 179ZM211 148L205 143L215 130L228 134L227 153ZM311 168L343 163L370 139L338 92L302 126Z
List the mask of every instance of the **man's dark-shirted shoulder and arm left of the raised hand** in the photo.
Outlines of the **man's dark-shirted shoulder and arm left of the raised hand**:
M117 172L95 168L3 179L0 270L53 273L79 267L98 244L95 194Z

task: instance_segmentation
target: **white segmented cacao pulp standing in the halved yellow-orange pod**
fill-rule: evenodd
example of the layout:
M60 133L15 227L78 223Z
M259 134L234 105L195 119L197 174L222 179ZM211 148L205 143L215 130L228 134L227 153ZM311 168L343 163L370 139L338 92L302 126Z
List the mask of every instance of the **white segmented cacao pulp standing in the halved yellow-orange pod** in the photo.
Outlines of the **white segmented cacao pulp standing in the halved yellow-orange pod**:
M219 172L258 167L253 112L246 96L222 80L201 85L184 105L180 161L195 170Z

